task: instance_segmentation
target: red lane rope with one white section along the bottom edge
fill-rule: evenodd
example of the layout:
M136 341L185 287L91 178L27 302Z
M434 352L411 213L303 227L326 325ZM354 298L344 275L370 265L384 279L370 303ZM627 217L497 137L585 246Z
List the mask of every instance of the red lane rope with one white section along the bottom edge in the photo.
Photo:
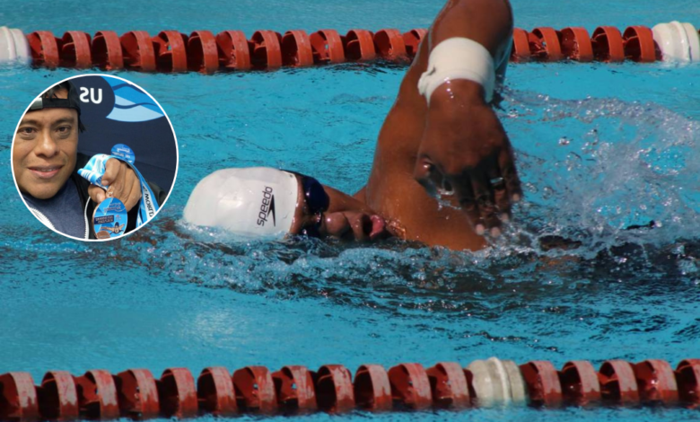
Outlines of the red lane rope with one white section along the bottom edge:
M361 365L354 379L343 365L322 365L317 371L288 365L275 372L246 366L232 374L213 366L197 380L186 368L166 369L160 379L147 369L116 375L95 369L78 376L49 371L39 385L25 372L0 375L3 422L660 405L700 409L700 359L685 359L675 370L661 359L636 364L614 359L596 372L588 361L567 362L556 370L548 361L516 365L491 357L466 367L441 362L425 369L408 363L387 371Z

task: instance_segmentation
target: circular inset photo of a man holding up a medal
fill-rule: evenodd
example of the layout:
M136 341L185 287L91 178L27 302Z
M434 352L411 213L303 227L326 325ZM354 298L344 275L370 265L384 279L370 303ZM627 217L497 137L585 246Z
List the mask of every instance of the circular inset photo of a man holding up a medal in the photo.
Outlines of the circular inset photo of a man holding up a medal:
M107 241L148 224L178 172L178 145L158 101L110 75L78 75L31 101L12 146L24 204L56 233Z

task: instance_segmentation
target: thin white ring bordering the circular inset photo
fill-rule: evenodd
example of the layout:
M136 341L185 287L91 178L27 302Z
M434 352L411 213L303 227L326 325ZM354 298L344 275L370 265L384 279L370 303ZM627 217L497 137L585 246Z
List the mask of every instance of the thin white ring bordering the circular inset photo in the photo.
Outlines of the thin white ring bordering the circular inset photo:
M148 95L148 96L151 98L151 100L153 100L153 102L155 102L155 104L161 109L163 116L165 116L165 119L168 120L168 124L171 126L172 137L173 137L174 140L175 140L175 174L174 174L174 176L173 176L173 178L172 178L172 185L171 185L171 189L168 191L168 196L165 198L165 200L163 201L162 204L159 204L158 211L156 211L156 212L155 212L155 215L153 215L153 218L151 218L151 220L148 221L148 223L152 223L152 222L153 222L153 219L155 219L155 217L158 215L158 213L161 212L162 208L165 207L165 204L168 203L168 199L171 198L172 189L175 189L175 183L176 183L177 180L178 180L178 171L179 171L179 147L178 147L178 136L177 136L177 134L175 133L175 128L172 127L171 118L168 116L168 113L166 113L165 110L163 110L161 103L158 102L158 100L156 100L155 98L153 98L153 95L151 95L148 91L144 90L144 88L142 88L141 86L139 86L139 85L137 85L137 84L134 84L134 83L131 82L131 81L127 81L127 79L124 79L124 78L119 77L119 76L107 75L107 74L74 75L74 76L71 76L71 77L67 77L66 79L62 79L61 81L58 81L56 84L50 84L50 85L48 85L48 88L50 88L50 87L52 87L52 86L55 86L55 85L57 85L57 84L62 84L62 83L64 83L64 82L66 82L66 81L70 81L71 79L77 79L77 78L82 78L82 77L92 77L92 76L110 77L110 78L118 79L118 80L120 80L120 81L124 81L124 82L126 82L127 84L136 86L136 88L138 88L139 90L141 90L142 92L144 92L146 95ZM48 88L47 88L47 89L48 89ZM43 92L43 91L42 91L42 92ZM39 94L40 94L40 92L39 92ZM39 95L39 94L38 94L38 95ZM79 238L79 237L73 237L73 236L68 235L68 234L66 234L66 233L61 233L61 232L57 231L55 228L51 228L51 227L49 227L48 225L43 224L43 223L41 222L41 220L39 220L39 217L37 217L36 215L34 215L34 213L31 212L31 209L30 209L29 205L27 205L27 201L25 201L25 200L24 200L24 197L22 196L22 191L20 191L19 185L17 185L17 180L16 180L15 177L14 177L14 163L13 163L14 140L15 140L15 137L17 136L17 130L20 128L20 123L22 123L22 119L23 119L24 116L27 114L27 111L29 111L30 107L31 107L31 102L30 102L30 104L27 106L27 108L24 110L24 112L22 113L22 116L20 116L20 119L17 121L17 126L14 127L13 145L12 145L12 147L10 148L10 169L11 169L12 172L13 172L14 187L17 189L17 193L20 195L20 198L22 199L22 203L24 203L24 207L27 207L27 211L29 211L30 214L31 214L34 218L36 218L37 221L39 221L39 223L40 223L41 225L43 225L44 227L48 228L48 230L51 230L51 231L53 231L54 233L60 234L60 235L62 235L62 236L64 236L64 237L67 237L68 239L73 239L74 241L81 241L81 242L111 242L111 241L116 241L116 240L118 240L118 239L124 239L124 238L126 238L128 235L130 235L130 234L132 234L132 233L136 233L136 232L138 232L139 230L141 230L143 227L145 227L148 223L142 224L141 227L136 227L136 229L132 230L131 232L129 232L129 233L124 233L124 234L122 234L122 235L119 236L119 237L114 237L114 238L109 238L109 239L83 239L83 238ZM80 142L80 141L79 141L79 142ZM88 198L88 200L92 200L92 199ZM90 220L91 220L91 219L88 218L88 224L90 224ZM89 225L88 225L87 229L88 229L88 232L90 232L90 226L89 226Z

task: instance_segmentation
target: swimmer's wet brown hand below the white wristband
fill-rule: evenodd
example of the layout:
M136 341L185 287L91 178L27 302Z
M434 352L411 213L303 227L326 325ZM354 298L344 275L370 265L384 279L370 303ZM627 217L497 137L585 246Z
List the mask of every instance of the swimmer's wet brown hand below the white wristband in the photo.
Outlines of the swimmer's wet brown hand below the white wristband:
M477 234L501 233L522 198L521 181L481 85L457 80L433 92L414 177L433 196L455 194Z

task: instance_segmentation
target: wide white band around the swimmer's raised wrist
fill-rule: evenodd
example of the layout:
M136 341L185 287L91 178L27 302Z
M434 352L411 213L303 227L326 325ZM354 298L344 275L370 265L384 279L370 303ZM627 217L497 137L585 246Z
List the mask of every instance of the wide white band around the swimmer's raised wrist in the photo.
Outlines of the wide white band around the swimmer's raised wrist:
M477 41L455 37L443 40L433 48L428 58L428 69L418 81L418 92L430 97L438 86L455 80L468 79L481 84L486 92L486 102L494 96L494 58Z

